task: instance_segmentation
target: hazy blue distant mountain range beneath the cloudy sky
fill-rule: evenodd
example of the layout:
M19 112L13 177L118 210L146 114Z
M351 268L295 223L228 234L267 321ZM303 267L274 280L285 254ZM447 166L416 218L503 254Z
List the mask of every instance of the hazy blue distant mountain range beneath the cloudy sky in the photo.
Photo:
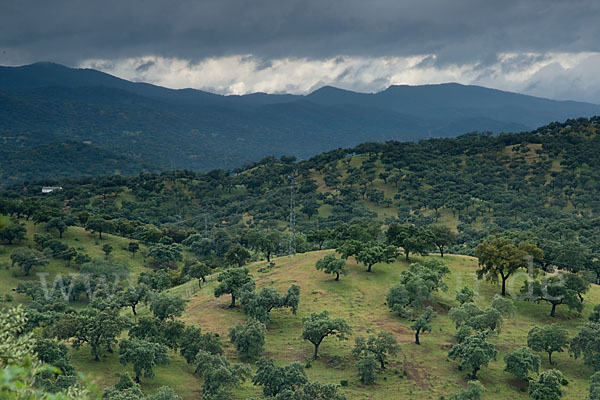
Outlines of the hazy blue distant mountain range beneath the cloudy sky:
M593 115L600 105L456 83L223 96L52 63L0 67L0 156L90 142L115 160L131 158L132 166L209 170L268 155L308 158L363 142L526 131Z

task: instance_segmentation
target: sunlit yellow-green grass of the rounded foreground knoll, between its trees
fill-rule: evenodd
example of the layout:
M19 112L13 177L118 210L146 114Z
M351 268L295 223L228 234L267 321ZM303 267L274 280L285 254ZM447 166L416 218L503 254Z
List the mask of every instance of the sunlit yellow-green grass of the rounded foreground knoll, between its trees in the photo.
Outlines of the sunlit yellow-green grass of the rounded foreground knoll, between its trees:
M350 356L353 338L343 342L328 338L319 349L320 359L312 362L312 367L306 370L311 379L332 383L348 380L349 386L342 388L342 392L349 399L388 399L398 395L411 399L438 399L466 385L466 372L458 371L456 362L448 360L446 356L454 343L452 336L455 333L454 326L447 317L447 310L457 304L454 300L456 289L464 285L476 289L479 294L477 303L481 307L489 305L493 295L498 292L497 286L476 280L476 260L463 256L445 257L452 271L447 279L449 290L437 294L435 307L439 317L434 322L433 332L425 334L422 345L417 346L413 344L410 322L390 313L384 304L387 290L397 282L400 271L407 267L407 263L376 265L369 274L362 265L349 262L350 274L335 282L331 276L314 269L316 260L325 253L326 251L313 252L294 258L279 258L276 260L277 266L267 273L257 272L265 263L252 266L259 287L274 285L283 292L292 283L301 286L298 315L294 316L287 310L273 312L273 321L268 327L265 356L273 357L279 363L305 363L310 360L312 345L300 338L301 319L311 312L326 309L334 316L346 318L354 329L354 336L380 330L392 331L403 352L390 360L387 372L378 375L375 386L364 386L356 376L355 361ZM515 289L518 290L522 279L523 277L517 277L514 280ZM204 288L191 299L184 320L227 337L229 328L245 320L239 309L227 308L229 300L216 299L212 295L212 287ZM586 296L583 315L587 315L599 300L600 288L594 286ZM517 302L517 309L517 316L505 321L500 336L491 339L500 354L497 361L480 372L481 382L487 388L487 399L527 398L526 393L519 391L524 385L503 372L503 357L508 351L526 344L527 332L532 326L560 322L574 335L577 326L584 322L584 317L571 314L566 308L559 308L557 318L552 319L548 316L549 307L546 304ZM233 348L228 346L229 357L235 358ZM544 355L541 356L543 369L550 368ZM566 388L566 398L583 398L591 371L583 365L582 360L574 360L566 353L557 354L555 361L558 363L557 368L565 373L570 382ZM403 377L404 371L406 378ZM253 387L251 383L246 383L237 392L238 398L259 393L260 389Z

